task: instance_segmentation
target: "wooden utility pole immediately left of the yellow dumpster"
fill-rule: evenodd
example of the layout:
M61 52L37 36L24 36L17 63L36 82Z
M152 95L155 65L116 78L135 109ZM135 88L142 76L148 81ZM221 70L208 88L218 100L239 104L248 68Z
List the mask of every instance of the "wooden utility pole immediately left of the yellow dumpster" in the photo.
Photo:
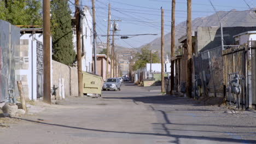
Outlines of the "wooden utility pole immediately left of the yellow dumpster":
M75 5L79 5L79 0L75 0ZM77 73L78 73L78 96L83 97L83 74L82 74L82 52L80 37L79 8L75 7L75 31L77 32Z

